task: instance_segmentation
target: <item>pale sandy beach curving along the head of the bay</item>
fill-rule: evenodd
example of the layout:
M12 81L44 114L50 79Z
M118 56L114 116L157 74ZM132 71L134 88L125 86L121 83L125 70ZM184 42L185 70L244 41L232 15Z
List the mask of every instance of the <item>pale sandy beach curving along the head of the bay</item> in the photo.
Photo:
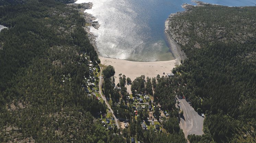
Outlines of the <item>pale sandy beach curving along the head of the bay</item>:
M145 77L156 77L167 75L175 67L176 59L169 61L156 61L156 62L136 62L120 59L111 59L99 57L103 65L111 65L115 68L115 84L119 82L119 74L125 75L126 78L130 77L133 81L136 77L145 75ZM163 74L165 72L165 74ZM127 91L131 93L131 86L127 86Z

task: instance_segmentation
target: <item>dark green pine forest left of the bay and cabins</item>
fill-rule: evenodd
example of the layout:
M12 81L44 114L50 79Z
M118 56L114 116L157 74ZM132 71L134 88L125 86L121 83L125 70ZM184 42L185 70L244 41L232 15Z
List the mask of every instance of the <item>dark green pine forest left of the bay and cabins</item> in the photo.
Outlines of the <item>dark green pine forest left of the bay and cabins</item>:
M124 141L95 120L106 106L82 88L89 60L100 60L78 10L7 2L0 24L8 27L0 32L0 142Z

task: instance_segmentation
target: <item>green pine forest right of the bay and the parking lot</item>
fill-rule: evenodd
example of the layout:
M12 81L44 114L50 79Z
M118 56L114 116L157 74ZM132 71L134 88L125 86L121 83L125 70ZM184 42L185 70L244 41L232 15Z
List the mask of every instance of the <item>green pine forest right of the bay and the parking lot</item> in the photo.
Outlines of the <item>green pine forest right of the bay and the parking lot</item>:
M256 142L255 13L255 6L203 4L171 20L173 39L188 59L173 69L175 80L163 79L163 85L206 114L204 130L210 133L189 135L190 142ZM155 97L171 107L172 100L162 100L168 99L165 88Z

